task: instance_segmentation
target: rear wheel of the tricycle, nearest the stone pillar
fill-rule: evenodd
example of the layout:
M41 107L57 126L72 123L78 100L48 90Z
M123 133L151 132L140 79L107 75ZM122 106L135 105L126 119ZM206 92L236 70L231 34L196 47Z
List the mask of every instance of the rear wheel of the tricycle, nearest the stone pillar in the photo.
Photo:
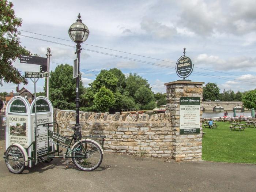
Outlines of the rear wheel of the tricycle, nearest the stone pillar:
M73 152L72 156L77 157L73 157L72 160L80 170L92 171L101 165L103 155L96 142L82 141L81 143L76 144L73 150L75 153Z

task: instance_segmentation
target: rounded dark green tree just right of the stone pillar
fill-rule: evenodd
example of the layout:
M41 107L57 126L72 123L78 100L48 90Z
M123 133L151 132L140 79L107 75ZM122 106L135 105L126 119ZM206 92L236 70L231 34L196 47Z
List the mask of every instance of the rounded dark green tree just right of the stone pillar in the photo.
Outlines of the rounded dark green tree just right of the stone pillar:
M219 87L216 83L207 83L206 86L203 87L203 101L208 99L211 101L220 99Z

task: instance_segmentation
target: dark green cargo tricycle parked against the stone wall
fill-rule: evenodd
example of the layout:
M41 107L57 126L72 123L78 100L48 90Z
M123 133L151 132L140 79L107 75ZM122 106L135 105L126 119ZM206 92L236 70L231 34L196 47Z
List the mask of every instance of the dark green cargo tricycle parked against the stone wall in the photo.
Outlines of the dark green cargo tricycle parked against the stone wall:
M56 125L57 132L50 131L49 127ZM92 171L101 165L103 159L103 143L105 136L86 136L81 134L81 125L69 126L74 130L71 136L62 136L59 134L59 125L56 122L38 124L46 128L48 147L47 152L37 150L37 140L40 137L35 129L35 140L24 148L18 143L14 143L7 148L4 153L5 163L11 173L22 173L29 161L34 162L35 165L42 162L50 162L53 158L59 157L63 159L72 159L72 162L83 171ZM101 145L92 140L92 138L100 140ZM52 145L50 145L52 143ZM74 144L73 144L74 143ZM33 146L33 153L28 157L29 148ZM50 147L52 146L52 147ZM59 146L66 149L63 154L63 149L59 150ZM43 153L44 152L44 153ZM60 155L60 153L62 155ZM42 155L38 155L42 154ZM57 154L57 155L56 155ZM67 161L68 163L68 161Z

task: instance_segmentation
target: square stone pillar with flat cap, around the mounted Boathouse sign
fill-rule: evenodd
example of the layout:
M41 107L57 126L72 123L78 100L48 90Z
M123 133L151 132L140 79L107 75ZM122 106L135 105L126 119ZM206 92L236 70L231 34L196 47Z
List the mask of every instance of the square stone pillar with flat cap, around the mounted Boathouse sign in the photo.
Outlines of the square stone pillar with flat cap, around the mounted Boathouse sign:
M176 161L202 161L202 99L204 82L174 81L165 83L167 106L173 135L173 158ZM180 135L180 97L200 97L200 133Z

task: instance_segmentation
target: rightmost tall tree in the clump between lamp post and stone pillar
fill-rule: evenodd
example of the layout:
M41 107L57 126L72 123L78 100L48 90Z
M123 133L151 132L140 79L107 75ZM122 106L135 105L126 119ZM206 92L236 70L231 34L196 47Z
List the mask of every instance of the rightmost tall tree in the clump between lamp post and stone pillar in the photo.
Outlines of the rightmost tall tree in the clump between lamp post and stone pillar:
M129 96L134 97L135 92L141 87L145 86L150 89L150 85L147 82L147 79L143 79L141 76L137 74L129 74L125 80L126 87L125 91L129 94ZM151 89L150 89L151 90Z

